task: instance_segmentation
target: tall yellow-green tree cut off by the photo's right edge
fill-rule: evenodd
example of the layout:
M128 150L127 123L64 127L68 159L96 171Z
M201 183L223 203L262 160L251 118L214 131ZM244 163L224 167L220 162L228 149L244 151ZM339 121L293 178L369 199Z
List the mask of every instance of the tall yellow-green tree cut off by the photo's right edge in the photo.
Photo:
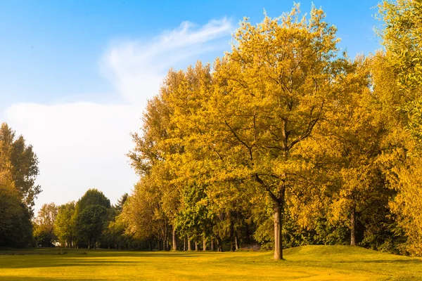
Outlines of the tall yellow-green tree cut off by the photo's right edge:
M383 159L390 186L397 190L390 206L407 234L407 251L421 255L422 1L383 1L379 8L385 53L374 67L375 89L383 100L395 102L386 107L399 112L390 129L390 153Z

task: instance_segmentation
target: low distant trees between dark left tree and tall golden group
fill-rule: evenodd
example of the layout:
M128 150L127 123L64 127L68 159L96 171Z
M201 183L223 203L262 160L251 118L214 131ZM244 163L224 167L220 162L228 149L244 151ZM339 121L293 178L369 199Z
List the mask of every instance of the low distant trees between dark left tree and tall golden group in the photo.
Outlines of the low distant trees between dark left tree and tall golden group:
M34 220L37 247L96 249L139 248L124 235L124 226L115 219L122 212L127 193L111 205L103 192L90 189L77 202L56 206L43 204Z

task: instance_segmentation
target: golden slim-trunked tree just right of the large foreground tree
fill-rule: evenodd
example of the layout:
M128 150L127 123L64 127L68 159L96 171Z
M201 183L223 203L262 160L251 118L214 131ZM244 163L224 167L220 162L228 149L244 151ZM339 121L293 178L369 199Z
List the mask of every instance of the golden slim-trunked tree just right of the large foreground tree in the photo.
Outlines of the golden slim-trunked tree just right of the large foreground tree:
M347 221L350 244L356 245L356 226L376 207L388 204L388 190L377 164L386 136L385 120L376 95L371 91L371 58L345 60L335 84L338 97L322 128L333 156L338 185L331 192L333 218Z

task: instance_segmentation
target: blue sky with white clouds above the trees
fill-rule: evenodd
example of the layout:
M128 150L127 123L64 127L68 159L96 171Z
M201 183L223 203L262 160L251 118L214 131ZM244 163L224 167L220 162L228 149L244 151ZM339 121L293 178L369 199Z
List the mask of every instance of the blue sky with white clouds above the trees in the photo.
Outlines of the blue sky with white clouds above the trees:
M353 58L381 48L378 1L314 0ZM312 2L301 1L302 12ZM167 71L229 51L244 17L257 23L293 1L0 1L0 122L34 147L42 204L97 188L112 204L138 177L134 147L148 99Z

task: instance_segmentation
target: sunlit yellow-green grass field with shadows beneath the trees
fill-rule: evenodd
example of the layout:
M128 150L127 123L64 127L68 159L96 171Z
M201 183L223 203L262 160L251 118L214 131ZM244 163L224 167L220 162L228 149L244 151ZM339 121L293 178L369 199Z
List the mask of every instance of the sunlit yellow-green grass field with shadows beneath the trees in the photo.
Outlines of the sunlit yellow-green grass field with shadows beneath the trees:
M0 251L0 280L422 280L422 259L359 247L270 252ZM87 254L83 254L83 253Z

